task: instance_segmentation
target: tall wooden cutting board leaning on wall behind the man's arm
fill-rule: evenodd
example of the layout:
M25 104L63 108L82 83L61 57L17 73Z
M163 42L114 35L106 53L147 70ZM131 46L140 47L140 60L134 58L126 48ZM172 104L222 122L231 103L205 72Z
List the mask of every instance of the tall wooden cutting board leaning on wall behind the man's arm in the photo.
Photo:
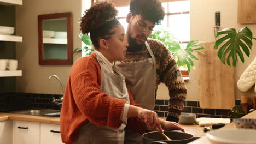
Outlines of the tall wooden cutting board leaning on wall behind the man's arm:
M200 107L231 109L235 104L234 67L220 61L214 42L200 45L205 46L205 55L198 53Z

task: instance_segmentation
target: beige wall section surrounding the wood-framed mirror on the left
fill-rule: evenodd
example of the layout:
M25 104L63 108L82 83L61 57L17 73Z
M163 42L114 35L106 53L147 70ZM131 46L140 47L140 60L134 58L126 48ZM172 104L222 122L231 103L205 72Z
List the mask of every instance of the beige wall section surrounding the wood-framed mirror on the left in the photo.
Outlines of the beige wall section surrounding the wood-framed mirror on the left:
M64 85L68 80L72 65L39 65L38 63L38 21L42 14L71 12L73 17L73 49L81 47L78 37L81 17L81 1L69 0L33 0L23 1L16 7L16 34L23 37L22 43L16 44L18 69L22 76L17 77L16 91L25 93L62 94L61 85L57 80L48 80L50 75L60 77ZM73 61L80 55L74 55Z

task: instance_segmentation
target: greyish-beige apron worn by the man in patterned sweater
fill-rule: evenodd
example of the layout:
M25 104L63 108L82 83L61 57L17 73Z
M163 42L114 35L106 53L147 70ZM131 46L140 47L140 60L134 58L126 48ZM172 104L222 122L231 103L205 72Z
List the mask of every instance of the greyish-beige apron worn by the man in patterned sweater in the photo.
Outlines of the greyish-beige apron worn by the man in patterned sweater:
M141 107L153 110L155 107L156 62L147 41L146 47L152 58L135 63L116 62L115 65L125 76L127 88ZM142 143L142 136L125 129L125 143Z

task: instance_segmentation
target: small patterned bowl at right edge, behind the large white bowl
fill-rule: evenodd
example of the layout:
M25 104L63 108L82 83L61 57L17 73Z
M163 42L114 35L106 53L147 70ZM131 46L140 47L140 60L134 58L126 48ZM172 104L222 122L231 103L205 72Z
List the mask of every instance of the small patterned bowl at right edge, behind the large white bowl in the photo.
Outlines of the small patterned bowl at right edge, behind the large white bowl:
M235 118L233 119L236 128L242 129L255 129L256 130L256 119L252 118Z

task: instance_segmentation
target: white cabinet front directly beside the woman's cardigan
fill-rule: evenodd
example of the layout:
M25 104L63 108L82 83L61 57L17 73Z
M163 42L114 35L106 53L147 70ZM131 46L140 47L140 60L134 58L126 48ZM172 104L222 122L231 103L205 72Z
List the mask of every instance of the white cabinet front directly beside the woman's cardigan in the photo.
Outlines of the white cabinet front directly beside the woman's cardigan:
M41 123L40 144L61 144L60 125Z

